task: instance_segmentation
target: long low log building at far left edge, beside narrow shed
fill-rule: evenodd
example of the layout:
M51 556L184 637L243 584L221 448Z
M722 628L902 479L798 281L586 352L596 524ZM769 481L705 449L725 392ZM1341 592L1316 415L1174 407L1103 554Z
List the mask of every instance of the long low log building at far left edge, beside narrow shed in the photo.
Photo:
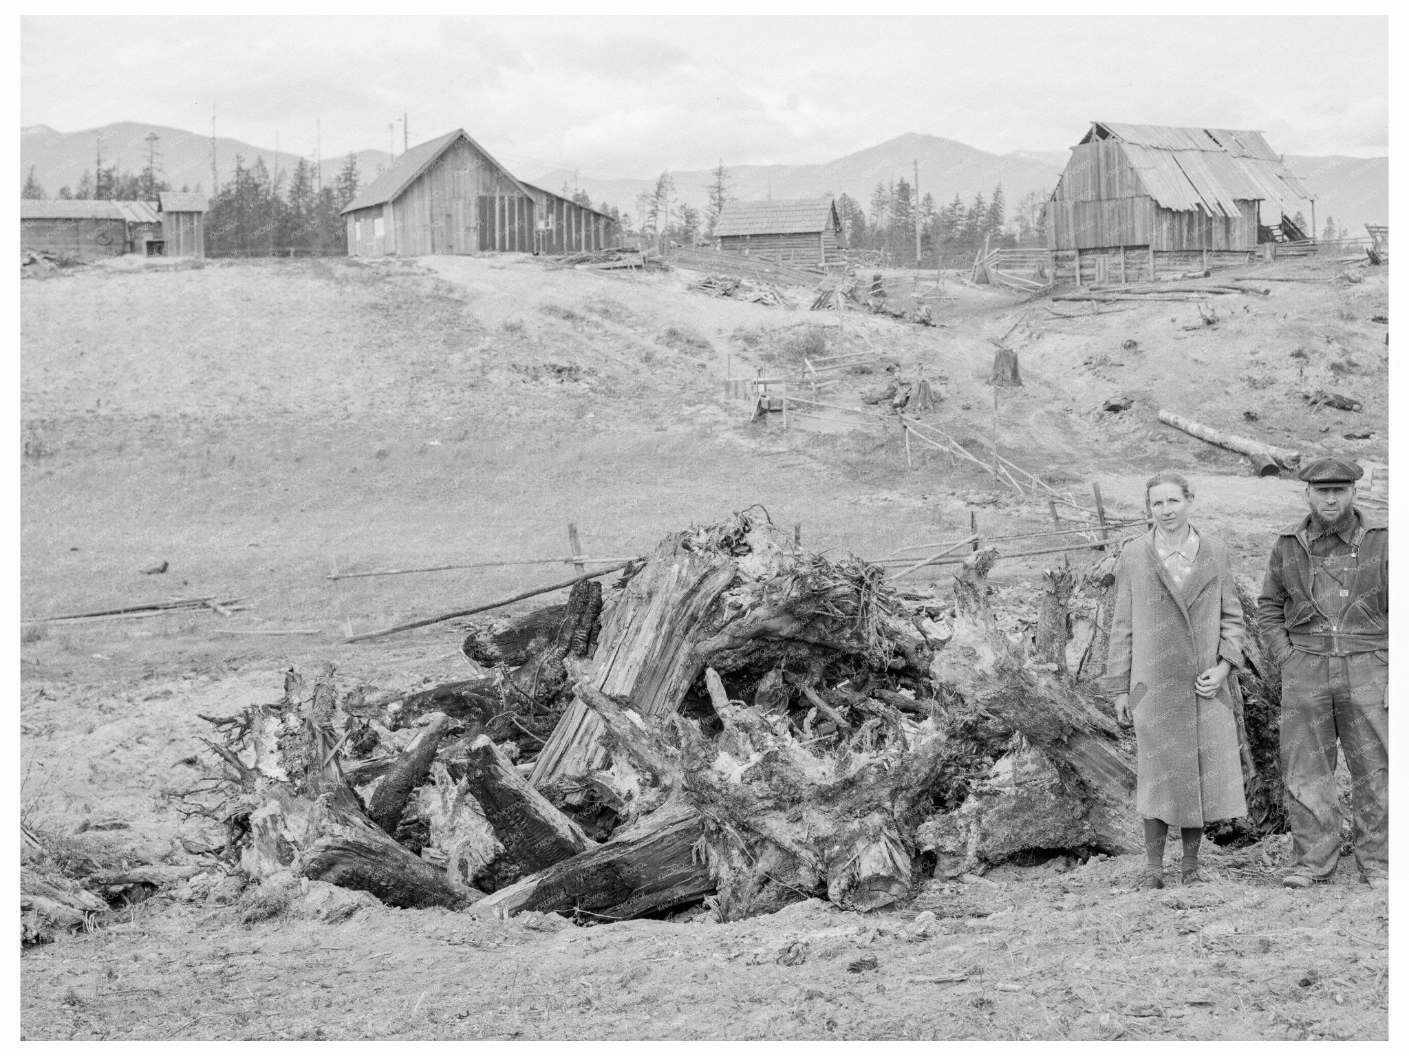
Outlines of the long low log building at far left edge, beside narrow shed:
M149 201L20 200L20 249L66 260L161 252L162 218Z

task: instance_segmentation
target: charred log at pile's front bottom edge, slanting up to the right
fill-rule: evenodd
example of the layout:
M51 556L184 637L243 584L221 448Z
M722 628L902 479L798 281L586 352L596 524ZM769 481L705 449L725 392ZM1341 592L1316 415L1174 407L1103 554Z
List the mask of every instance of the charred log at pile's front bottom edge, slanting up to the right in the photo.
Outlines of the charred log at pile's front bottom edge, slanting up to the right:
M686 807L658 810L609 842L495 891L472 912L583 912L624 921L695 901L714 890L714 879L696 853L703 828L700 817Z

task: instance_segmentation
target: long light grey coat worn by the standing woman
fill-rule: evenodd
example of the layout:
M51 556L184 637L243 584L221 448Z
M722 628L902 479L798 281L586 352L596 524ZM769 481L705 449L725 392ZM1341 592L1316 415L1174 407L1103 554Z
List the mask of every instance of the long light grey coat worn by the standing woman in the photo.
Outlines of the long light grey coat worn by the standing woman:
M1199 532L1199 552L1175 587L1154 529L1116 562L1106 690L1129 693L1137 746L1136 810L1192 828L1247 814L1230 681L1213 700L1193 680L1219 659L1243 666L1243 607L1227 548Z

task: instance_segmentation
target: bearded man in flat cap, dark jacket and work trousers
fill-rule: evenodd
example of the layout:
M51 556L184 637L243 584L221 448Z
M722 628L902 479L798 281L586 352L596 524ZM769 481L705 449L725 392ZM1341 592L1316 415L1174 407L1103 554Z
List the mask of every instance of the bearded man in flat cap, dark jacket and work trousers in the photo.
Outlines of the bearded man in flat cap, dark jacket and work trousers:
M1355 507L1354 462L1305 466L1310 514L1282 532L1257 600L1282 670L1282 780L1293 862L1285 887L1324 883L1340 857L1336 742L1351 779L1355 862L1389 883L1389 529Z

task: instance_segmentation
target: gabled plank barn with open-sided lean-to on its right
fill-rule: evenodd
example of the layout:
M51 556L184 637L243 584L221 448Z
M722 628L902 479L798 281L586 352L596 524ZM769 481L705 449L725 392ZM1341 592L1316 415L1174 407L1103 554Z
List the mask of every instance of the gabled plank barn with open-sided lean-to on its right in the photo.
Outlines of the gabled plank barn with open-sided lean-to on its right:
M616 237L607 214L516 179L459 128L410 148L342 215L349 256L565 252Z

